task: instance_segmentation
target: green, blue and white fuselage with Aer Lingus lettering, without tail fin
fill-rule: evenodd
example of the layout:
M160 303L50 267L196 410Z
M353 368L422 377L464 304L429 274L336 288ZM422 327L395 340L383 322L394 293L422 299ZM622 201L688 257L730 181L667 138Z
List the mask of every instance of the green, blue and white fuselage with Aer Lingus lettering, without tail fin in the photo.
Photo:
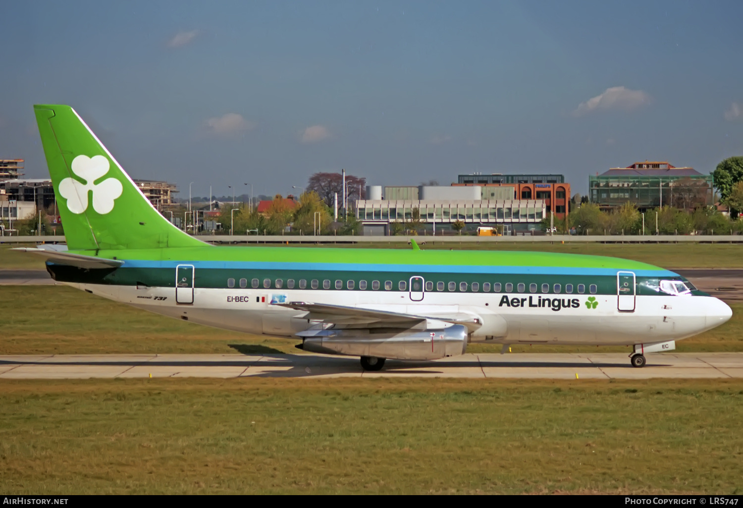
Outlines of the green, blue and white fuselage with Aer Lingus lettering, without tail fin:
M108 299L270 336L297 338L317 325L308 312L279 306L287 302L470 316L470 342L529 344L678 340L732 315L677 273L591 255L210 246L97 255L123 266L48 269L57 281Z

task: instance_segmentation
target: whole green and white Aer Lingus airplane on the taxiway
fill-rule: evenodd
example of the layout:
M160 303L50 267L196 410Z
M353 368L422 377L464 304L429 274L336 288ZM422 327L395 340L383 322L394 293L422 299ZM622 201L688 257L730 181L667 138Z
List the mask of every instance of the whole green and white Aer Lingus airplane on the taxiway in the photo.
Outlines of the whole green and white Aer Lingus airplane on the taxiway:
M212 246L163 218L74 109L34 110L67 250L24 250L54 280L134 307L301 339L370 371L470 342L629 345L642 367L732 315L677 273L620 258Z

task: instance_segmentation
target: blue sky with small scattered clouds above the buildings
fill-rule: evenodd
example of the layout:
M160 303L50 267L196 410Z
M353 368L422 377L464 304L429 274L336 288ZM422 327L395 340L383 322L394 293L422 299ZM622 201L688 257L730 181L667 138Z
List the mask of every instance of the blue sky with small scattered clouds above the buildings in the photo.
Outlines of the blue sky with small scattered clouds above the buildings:
M743 154L740 1L1 2L0 158L72 105L181 197Z

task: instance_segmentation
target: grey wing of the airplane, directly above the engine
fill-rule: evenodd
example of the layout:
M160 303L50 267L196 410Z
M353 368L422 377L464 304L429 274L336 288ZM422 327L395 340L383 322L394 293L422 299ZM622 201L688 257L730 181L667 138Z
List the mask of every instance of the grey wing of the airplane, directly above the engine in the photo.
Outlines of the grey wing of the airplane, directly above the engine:
M416 316L414 314L390 312L388 310L367 309L363 307L345 307L343 305L316 304L311 302L288 302L275 304L294 310L309 312L307 319L316 319L338 325L385 324L420 328L422 330L441 330L452 325L469 325L479 328L478 319L466 313L442 314L433 316Z

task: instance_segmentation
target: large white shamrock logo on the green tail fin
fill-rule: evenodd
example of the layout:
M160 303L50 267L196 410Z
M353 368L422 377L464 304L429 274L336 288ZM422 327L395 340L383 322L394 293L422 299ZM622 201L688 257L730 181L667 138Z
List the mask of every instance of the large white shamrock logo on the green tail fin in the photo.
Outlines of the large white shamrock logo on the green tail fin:
M67 207L72 213L82 213L88 209L88 191L93 192L93 209L101 215L114 209L114 200L123 192L121 182L116 178L106 178L96 185L98 178L108 173L108 159L103 155L78 155L72 160L72 172L85 180L85 183L74 178L65 178L59 182L59 194L67 200Z

